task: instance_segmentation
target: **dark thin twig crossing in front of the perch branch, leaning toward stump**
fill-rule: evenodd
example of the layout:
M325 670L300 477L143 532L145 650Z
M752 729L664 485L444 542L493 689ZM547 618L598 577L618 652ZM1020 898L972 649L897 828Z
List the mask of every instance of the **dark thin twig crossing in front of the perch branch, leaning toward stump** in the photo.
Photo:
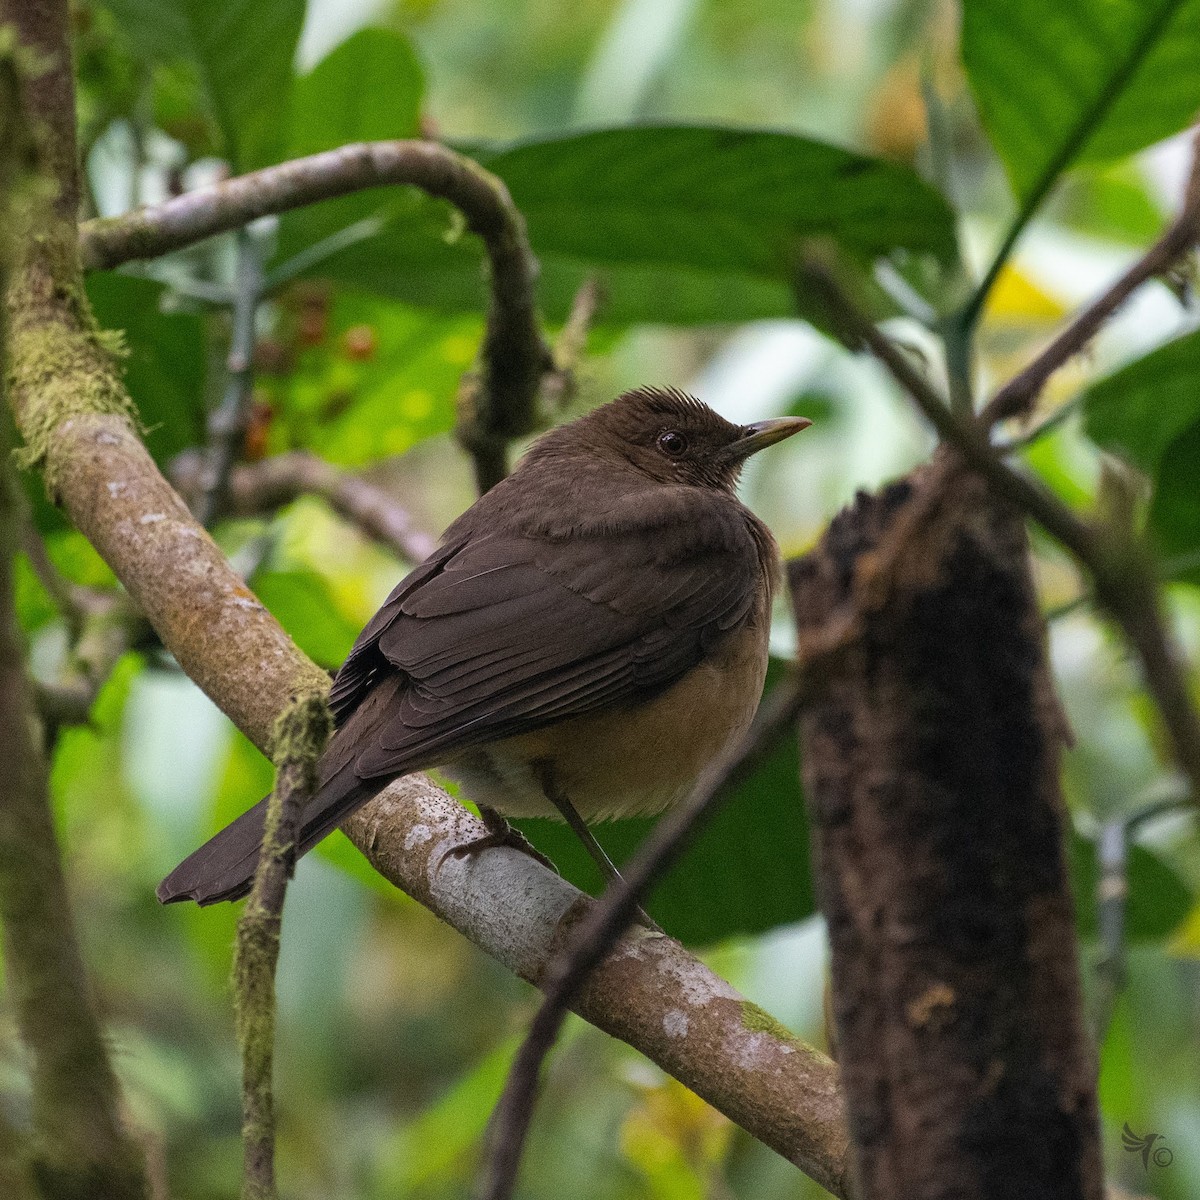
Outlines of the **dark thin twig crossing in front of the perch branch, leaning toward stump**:
M851 636L850 628L833 631L827 646L815 648L804 664L797 665L775 688L740 744L724 761L709 767L686 803L672 809L659 822L624 868L622 882L605 892L600 902L580 922L569 949L552 962L540 982L545 1000L517 1051L504 1093L492 1114L480 1187L482 1200L509 1200L512 1195L542 1061L584 980L629 926L650 888L679 859L730 791L752 774L779 738L794 726L800 709L821 685L828 661L842 653Z

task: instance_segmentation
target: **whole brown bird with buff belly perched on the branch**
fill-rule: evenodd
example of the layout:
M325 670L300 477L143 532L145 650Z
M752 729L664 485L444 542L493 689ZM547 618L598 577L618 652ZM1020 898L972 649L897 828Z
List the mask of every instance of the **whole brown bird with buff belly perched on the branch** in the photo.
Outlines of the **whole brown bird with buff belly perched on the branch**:
M811 422L734 425L644 388L539 438L400 582L334 679L336 732L299 852L397 775L439 767L491 833L659 812L750 724L778 550L734 494L745 460ZM185 859L158 899L250 890L265 802Z

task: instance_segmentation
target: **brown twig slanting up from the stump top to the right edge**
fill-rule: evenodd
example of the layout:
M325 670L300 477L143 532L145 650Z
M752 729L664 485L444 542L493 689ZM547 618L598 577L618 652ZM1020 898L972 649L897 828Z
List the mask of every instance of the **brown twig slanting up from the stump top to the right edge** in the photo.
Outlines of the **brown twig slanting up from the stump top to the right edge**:
M1106 292L1097 296L1050 344L1018 374L1013 376L984 407L982 421L990 428L997 421L1020 416L1037 400L1046 380L1068 359L1079 354L1104 323L1147 280L1164 275L1200 240L1200 133L1192 142L1192 172L1183 193L1183 206L1162 238Z

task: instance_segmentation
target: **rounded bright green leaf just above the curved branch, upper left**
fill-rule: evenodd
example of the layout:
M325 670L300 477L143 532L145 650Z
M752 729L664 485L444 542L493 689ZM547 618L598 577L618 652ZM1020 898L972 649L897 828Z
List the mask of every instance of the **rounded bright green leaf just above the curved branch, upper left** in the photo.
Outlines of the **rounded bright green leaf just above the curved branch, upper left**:
M420 132L421 65L407 37L364 29L296 80L290 157Z

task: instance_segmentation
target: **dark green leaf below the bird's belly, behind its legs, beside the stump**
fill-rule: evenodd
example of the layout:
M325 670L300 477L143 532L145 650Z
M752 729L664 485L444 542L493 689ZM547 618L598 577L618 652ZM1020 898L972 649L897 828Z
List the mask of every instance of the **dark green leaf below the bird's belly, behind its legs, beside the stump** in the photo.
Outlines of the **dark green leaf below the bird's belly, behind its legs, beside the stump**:
M782 670L772 664L768 688ZM576 887L602 890L599 870L566 826L540 818L514 823ZM619 866L653 827L653 820L638 818L594 832ZM672 937L694 946L758 934L815 911L796 737L784 737L721 806L650 894L647 910Z

